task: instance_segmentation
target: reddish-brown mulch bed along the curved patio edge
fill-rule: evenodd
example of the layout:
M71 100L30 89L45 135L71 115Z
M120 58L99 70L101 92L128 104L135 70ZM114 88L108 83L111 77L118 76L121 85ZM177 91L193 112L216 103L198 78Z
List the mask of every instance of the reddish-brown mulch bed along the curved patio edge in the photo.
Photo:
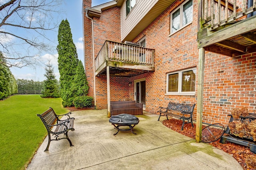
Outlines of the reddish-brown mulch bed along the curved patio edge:
M192 127L191 123L185 123L183 131L181 131L182 121L179 119L169 119L164 120L163 125L176 131L182 135L187 137L191 137L196 139L196 124L194 123L194 127ZM202 129L205 126L202 127ZM220 143L220 139L217 141L208 143L224 152L232 155L237 162L244 168L244 170L255 170L256 169L256 154L250 151L248 147L243 145L238 145L236 143L231 143L226 141L226 143ZM246 161L247 159L247 161ZM249 162L249 163L247 163ZM252 162L252 165L250 165Z

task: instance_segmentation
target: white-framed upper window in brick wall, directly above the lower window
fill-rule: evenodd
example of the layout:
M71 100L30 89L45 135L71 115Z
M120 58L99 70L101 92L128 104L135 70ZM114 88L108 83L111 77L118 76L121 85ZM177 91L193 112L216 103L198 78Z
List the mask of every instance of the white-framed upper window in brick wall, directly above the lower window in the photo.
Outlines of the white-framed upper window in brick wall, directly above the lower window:
M170 33L182 29L186 25L192 23L193 18L193 0L188 0L180 5L174 12L171 13Z

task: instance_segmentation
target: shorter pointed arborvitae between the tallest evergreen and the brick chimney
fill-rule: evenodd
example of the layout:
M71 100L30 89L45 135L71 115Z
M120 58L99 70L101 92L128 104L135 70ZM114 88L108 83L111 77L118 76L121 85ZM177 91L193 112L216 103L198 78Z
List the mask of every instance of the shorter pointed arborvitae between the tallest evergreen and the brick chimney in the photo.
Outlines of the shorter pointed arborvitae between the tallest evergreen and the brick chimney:
M72 84L73 96L86 96L88 94L89 86L87 78L84 72L84 66L82 61L78 62L76 67L76 75L74 76L74 82Z

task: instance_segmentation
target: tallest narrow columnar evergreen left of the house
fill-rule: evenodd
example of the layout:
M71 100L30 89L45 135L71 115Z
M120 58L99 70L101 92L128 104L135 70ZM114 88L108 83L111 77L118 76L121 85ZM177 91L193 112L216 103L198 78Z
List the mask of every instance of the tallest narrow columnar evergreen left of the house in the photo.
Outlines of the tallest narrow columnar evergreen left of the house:
M64 107L73 106L72 83L76 75L78 55L72 40L72 33L68 20L62 20L58 30L58 69L60 72L60 95Z

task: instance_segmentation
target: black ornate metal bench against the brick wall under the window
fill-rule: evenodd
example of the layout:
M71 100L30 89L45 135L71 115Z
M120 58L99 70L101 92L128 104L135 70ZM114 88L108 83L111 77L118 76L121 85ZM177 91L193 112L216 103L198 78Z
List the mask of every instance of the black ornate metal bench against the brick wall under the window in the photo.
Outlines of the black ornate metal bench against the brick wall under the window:
M174 102L169 102L167 107L159 107L160 110L157 111L159 113L158 121L161 116L167 117L168 120L168 115L172 117L177 117L183 121L181 130L183 130L185 120L191 121L192 127L193 121L192 121L192 115L194 111L194 107L196 104L185 104L185 103L174 103ZM181 115L175 114L174 112L181 112Z

